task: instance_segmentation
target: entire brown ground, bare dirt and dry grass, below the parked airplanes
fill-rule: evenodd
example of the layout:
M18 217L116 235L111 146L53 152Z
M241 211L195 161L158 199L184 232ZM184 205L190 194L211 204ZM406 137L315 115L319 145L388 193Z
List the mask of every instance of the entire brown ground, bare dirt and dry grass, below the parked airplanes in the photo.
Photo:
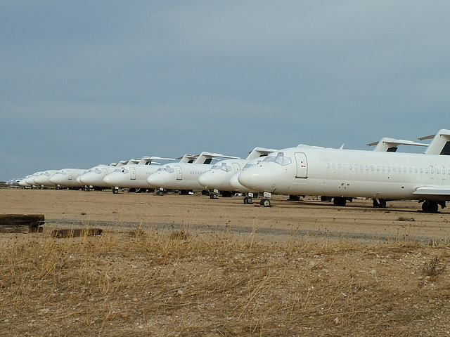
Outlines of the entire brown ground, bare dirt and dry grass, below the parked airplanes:
M285 199L0 189L0 336L450 335L449 210Z

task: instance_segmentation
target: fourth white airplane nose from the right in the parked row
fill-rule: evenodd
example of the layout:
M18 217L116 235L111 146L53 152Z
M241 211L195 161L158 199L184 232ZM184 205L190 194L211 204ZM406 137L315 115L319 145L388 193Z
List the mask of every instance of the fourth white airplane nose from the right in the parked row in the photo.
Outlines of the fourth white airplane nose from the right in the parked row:
M200 175L211 169L211 161L217 158L238 159L238 157L224 156L223 154L202 152L193 163L172 163L160 167L158 171L147 178L147 183L162 189L180 190L181 194L188 194L193 190L204 190L198 183Z

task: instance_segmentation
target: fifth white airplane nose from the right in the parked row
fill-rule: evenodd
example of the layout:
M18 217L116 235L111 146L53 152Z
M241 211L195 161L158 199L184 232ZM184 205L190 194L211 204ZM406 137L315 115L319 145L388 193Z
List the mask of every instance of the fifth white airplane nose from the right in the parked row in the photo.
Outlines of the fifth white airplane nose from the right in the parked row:
M149 188L147 178L150 174L160 169L159 163L152 164L154 160L175 160L173 158L162 157L142 157L137 164L124 165L115 169L112 173L103 178L103 183L109 187L113 187L113 193L117 193L120 187L129 187L131 189L147 189ZM188 157L183 157L186 162Z

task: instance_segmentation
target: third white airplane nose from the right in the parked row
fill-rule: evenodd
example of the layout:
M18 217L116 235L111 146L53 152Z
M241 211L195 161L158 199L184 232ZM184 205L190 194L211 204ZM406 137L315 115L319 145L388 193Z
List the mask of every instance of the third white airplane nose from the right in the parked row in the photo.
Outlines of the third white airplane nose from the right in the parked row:
M242 170L249 161L252 161L252 159L264 157L274 151L276 150L255 147L255 149L249 152L246 159L224 159L218 161L209 171L206 171L198 178L198 183L208 190L214 190L214 192L210 193L211 199L217 199L217 193L219 193L219 191L221 191L222 197L231 197L233 191L242 192L231 186L231 176Z

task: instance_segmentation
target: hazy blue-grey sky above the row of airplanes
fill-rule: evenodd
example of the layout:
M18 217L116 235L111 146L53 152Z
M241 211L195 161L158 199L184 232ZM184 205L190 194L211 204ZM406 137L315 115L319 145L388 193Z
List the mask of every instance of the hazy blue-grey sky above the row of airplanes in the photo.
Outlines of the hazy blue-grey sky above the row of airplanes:
M434 134L449 18L444 0L1 1L0 180Z

